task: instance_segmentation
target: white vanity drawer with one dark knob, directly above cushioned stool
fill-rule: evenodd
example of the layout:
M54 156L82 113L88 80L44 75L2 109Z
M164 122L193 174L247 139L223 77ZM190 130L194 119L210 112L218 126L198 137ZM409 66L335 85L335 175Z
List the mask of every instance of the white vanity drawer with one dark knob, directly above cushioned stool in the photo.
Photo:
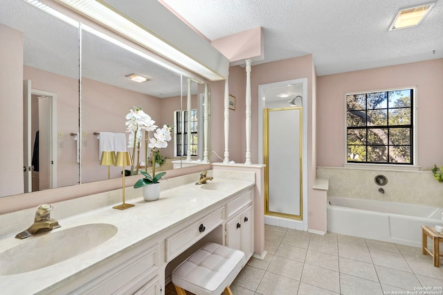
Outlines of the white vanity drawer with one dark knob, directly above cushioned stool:
M206 236L206 234L209 234L210 231L221 225L222 222L223 208L220 208L166 238L166 262L179 256L183 251L194 245L197 240L200 240Z

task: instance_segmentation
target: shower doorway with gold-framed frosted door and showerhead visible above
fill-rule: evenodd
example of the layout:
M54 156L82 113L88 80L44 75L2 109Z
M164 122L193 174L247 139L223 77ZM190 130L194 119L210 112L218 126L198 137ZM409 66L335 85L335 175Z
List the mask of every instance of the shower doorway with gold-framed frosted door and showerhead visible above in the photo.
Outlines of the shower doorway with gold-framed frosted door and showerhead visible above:
M307 79L259 85L265 223L307 229Z

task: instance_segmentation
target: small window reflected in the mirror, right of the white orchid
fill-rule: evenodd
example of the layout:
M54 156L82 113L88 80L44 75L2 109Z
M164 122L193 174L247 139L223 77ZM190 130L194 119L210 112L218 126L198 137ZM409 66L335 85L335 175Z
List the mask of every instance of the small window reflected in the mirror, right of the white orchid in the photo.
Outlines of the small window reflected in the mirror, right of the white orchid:
M181 155L188 155L188 111L175 111L175 155L179 157ZM182 124L184 119L184 124ZM191 155L198 155L198 117L197 110L191 110L190 119L190 150Z

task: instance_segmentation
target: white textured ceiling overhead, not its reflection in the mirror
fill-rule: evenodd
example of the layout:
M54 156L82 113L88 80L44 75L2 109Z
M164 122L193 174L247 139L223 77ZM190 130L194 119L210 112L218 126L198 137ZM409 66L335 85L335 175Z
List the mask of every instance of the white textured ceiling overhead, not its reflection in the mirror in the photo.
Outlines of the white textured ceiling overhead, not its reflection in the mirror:
M426 1L162 1L210 40L261 26L264 61L253 64L312 54L329 75L443 57L442 0L418 27L392 32L400 8Z

